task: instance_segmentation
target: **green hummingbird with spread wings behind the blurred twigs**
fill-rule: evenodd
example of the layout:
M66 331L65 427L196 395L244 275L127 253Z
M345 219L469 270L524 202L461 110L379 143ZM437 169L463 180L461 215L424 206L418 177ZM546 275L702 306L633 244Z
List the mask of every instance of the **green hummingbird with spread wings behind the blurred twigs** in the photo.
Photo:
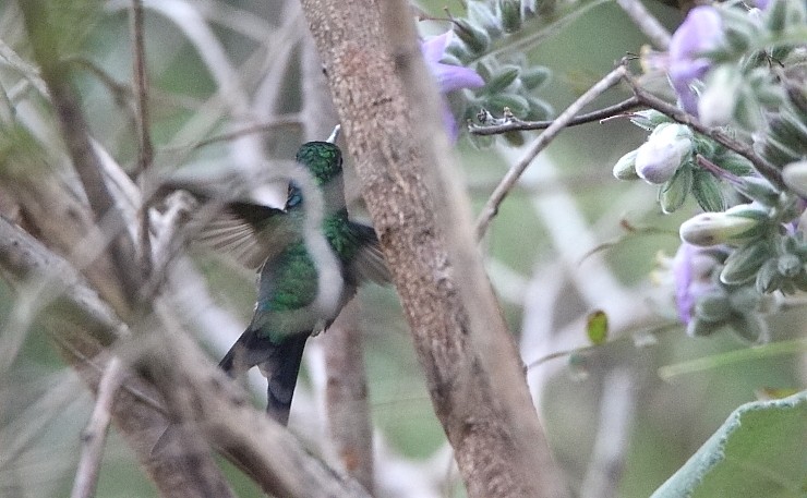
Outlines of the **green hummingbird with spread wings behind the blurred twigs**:
M348 218L339 148L309 142L296 162L313 185L303 189L305 177L292 174L282 209L249 197L229 202L202 235L246 266L261 262L254 314L219 366L233 378L257 366L268 380L266 411L284 425L309 337L336 319L361 283L389 281L375 231Z

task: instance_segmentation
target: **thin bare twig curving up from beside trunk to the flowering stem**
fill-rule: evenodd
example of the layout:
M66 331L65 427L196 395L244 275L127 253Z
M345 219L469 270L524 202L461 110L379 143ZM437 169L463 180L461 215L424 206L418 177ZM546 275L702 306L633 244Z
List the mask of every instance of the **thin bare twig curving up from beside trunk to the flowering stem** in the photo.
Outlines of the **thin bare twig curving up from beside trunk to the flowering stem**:
M557 136L561 131L566 127L575 116L580 112L580 109L586 107L589 102L594 100L597 97L605 93L609 88L619 83L619 81L627 74L627 70L623 64L617 66L615 70L610 72L605 77L600 80L594 86L589 88L582 94L577 100L575 100L565 111L557 117L555 121L539 136L532 144L530 149L516 165L514 165L505 174L502 182L498 184L491 197L482 208L482 212L477 219L477 238L481 239L487 231L487 226L494 216L498 212L498 207L516 185L516 182L525 172L532 160L544 149L547 145Z

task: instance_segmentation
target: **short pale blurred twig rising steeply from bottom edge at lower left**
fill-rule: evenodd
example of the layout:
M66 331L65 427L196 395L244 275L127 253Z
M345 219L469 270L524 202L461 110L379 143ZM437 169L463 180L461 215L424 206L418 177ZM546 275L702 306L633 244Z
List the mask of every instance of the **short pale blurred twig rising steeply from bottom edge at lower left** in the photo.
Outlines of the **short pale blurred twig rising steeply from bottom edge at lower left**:
M89 423L82 435L82 457L75 473L71 498L91 498L95 496L98 483L101 454L107 439L107 429L112 420L111 411L115 393L122 380L121 362L112 357L98 385L98 396Z

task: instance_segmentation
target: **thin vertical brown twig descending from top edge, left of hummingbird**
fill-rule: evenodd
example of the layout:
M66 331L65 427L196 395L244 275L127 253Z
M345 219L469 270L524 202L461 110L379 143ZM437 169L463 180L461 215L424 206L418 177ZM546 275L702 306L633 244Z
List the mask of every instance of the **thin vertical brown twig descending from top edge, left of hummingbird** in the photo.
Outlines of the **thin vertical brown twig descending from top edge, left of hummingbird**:
M135 130L137 132L137 175L142 191L146 191L146 170L154 160L154 148L148 133L148 76L146 73L145 42L143 40L143 1L132 0L130 14L132 34L132 86L134 87ZM143 197L137 217L140 218L140 264L143 275L152 272L152 240L148 228L147 197Z

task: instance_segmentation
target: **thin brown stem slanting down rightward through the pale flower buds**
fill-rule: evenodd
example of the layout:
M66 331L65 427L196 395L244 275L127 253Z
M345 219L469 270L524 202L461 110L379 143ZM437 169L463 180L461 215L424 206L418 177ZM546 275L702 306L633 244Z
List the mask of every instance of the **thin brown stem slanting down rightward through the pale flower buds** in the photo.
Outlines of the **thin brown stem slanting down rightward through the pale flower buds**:
M680 124L686 124L696 132L710 137L714 142L726 148L734 150L735 153L748 159L751 165L754 165L754 168L759 172L759 174L771 182L773 186L780 190L786 189L784 181L782 180L782 172L775 166L771 165L766 159L758 156L757 153L754 151L754 147L732 138L731 136L728 136L728 134L726 134L719 127L706 126L700 121L698 121L696 117L652 95L651 93L642 88L636 81L636 78L634 78L627 72L625 73L624 77L628 85L630 85L634 95L639 99L639 101L641 101L641 104L651 109L655 109L657 111Z

